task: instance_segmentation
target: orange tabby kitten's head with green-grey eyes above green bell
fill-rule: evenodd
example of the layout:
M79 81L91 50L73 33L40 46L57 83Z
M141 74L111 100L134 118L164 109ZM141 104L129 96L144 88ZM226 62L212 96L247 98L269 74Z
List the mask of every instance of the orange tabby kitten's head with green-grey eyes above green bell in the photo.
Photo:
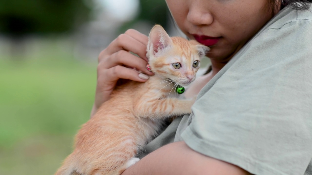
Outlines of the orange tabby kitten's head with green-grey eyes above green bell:
M163 27L156 25L149 33L147 58L155 75L188 85L196 78L200 59L210 49L182 37L169 37Z

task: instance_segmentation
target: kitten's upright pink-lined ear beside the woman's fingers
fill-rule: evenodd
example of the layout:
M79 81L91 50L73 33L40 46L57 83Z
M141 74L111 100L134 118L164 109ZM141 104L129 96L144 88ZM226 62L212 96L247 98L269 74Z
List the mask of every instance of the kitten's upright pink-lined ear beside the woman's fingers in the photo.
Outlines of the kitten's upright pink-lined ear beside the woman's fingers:
M155 55L172 45L172 40L162 26L155 25L149 33L149 43L147 44L147 52L152 51Z

